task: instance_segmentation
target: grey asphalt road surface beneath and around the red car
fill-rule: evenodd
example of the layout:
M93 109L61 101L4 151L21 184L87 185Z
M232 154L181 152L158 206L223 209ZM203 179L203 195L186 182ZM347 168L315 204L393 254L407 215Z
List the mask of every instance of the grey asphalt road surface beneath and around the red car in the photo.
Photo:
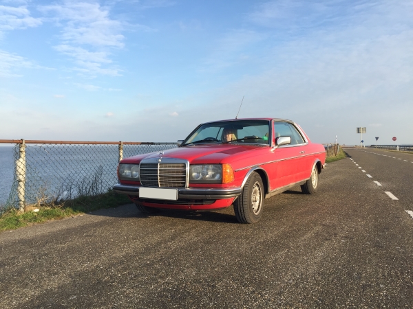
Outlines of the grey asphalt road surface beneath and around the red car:
M347 151L255 225L125 205L0 233L0 308L413 308L413 155Z

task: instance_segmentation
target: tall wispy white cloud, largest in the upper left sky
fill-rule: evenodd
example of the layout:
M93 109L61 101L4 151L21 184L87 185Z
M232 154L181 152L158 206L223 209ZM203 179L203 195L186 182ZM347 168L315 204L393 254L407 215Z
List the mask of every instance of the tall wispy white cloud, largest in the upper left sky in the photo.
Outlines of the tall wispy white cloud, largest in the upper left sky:
M121 34L124 26L122 21L110 18L109 8L96 2L63 1L39 10L63 27L61 44L54 48L74 60L75 71L89 76L120 75L109 56L125 46Z

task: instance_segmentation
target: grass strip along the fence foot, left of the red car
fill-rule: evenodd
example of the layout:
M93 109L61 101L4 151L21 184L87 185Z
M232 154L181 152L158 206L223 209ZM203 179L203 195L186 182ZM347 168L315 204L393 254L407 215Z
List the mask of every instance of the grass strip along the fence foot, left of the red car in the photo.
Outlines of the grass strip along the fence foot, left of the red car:
M59 220L65 217L85 214L90 211L118 207L129 204L131 201L126 195L116 194L109 190L105 194L96 196L79 196L70 201L65 201L61 205L40 206L39 211L27 211L20 214L17 209L10 209L0 216L0 231L18 229L34 223L45 222L47 220ZM33 207L32 207L33 208Z

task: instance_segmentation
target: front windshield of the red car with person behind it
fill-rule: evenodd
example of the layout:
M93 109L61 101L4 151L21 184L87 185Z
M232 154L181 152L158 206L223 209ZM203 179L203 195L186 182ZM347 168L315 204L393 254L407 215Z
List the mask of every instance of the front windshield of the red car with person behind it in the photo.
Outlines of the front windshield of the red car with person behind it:
M203 124L185 140L193 144L269 144L268 120L236 120Z

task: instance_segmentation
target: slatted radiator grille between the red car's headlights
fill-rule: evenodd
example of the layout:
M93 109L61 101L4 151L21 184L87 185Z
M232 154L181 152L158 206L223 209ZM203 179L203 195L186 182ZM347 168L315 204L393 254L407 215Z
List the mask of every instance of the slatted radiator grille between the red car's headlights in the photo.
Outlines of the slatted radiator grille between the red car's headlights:
M140 183L144 187L185 187L185 163L140 163Z

